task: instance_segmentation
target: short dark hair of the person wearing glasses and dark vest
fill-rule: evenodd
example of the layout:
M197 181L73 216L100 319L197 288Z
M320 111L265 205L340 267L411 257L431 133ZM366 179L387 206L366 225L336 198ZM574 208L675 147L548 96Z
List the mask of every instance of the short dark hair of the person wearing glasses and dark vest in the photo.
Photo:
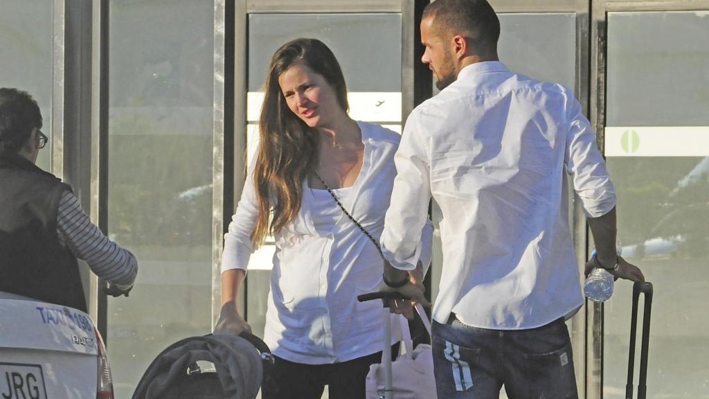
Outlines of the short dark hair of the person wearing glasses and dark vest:
M40 107L28 92L0 88L0 152L18 152L32 130L41 127Z

